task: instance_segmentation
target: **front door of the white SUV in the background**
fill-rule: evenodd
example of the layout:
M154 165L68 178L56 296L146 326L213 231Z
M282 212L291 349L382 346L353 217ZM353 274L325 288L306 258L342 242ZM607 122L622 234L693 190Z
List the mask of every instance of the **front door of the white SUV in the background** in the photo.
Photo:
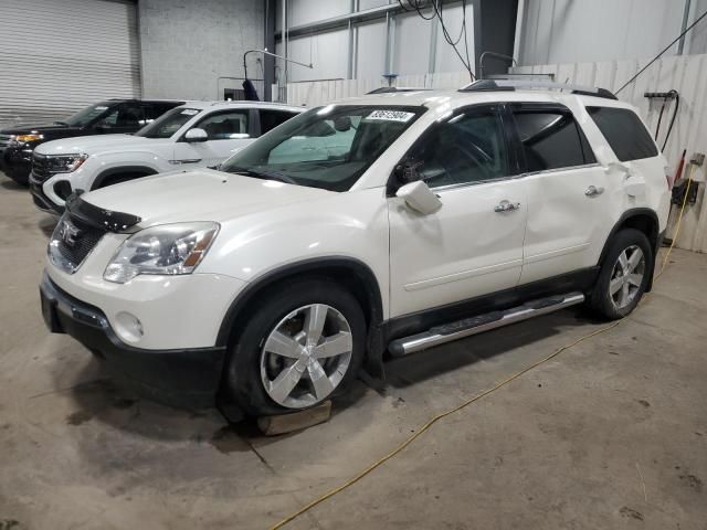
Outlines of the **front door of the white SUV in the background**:
M175 144L175 163L218 166L253 141L247 109L212 113L197 121L192 128L205 130L208 139L189 142L182 136Z

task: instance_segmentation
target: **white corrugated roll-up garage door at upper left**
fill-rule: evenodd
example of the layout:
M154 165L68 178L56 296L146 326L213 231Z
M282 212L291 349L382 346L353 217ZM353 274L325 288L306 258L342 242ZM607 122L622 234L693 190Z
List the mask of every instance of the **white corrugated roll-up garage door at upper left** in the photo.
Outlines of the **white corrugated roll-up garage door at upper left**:
M0 0L0 127L140 97L135 1Z

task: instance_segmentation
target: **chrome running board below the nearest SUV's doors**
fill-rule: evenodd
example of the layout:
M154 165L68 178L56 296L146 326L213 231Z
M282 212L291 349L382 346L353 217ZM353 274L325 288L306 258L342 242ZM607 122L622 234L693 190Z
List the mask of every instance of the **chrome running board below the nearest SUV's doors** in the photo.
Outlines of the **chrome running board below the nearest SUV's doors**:
M548 312L574 306L582 301L584 301L584 295L581 293L569 293L567 295L539 298L504 311L492 311L476 317L465 318L456 322L435 326L422 333L395 339L388 344L388 350L393 357L403 357L445 342L508 326L509 324L547 315Z

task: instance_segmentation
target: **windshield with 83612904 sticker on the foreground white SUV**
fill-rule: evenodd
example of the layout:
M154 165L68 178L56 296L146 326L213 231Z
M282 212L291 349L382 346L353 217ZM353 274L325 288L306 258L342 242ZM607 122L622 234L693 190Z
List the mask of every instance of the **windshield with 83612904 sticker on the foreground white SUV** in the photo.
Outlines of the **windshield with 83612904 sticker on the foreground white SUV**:
M285 121L221 171L346 191L425 109L328 105Z

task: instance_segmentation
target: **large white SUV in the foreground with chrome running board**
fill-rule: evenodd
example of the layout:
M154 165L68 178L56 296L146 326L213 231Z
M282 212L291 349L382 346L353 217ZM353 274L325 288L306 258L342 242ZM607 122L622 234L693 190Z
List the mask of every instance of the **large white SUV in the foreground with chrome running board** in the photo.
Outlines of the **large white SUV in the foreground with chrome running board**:
M50 329L152 395L261 415L381 375L384 354L584 300L625 316L666 226L663 156L603 91L503 88L342 100L218 171L73 197Z

